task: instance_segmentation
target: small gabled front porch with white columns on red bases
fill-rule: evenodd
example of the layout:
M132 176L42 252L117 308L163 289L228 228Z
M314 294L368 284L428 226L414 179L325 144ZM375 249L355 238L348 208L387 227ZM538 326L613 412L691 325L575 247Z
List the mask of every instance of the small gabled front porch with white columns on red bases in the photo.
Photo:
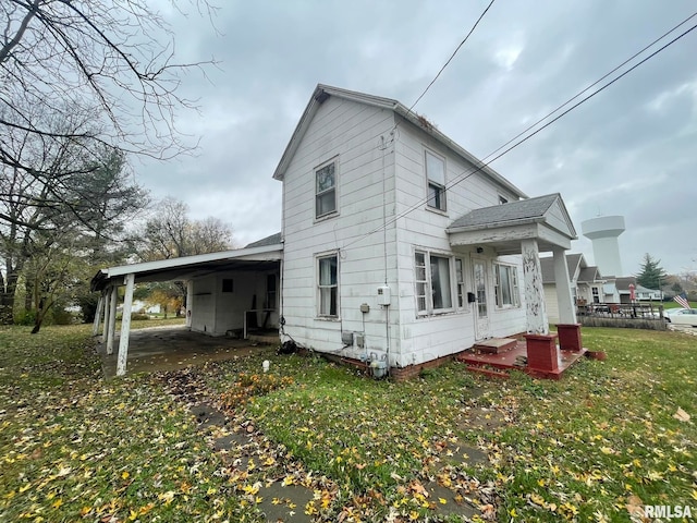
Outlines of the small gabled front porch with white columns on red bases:
M576 355L583 355L585 350L580 339L580 325L576 319L565 256L565 252L571 248L571 241L576 240L577 235L560 194L475 209L451 223L447 231L454 252L486 251L496 256L522 257L525 341L500 351L513 351L510 354L496 357L509 365L508 358L523 362L517 356L524 352L524 367L531 364L533 369L552 376L566 368L560 365L562 354L570 355L565 358L570 364L577 360ZM542 252L551 252L553 256L560 316L558 332L550 332L549 328L539 258ZM478 285L484 283L475 281L475 299L479 300L481 289ZM484 357L491 356L487 354Z

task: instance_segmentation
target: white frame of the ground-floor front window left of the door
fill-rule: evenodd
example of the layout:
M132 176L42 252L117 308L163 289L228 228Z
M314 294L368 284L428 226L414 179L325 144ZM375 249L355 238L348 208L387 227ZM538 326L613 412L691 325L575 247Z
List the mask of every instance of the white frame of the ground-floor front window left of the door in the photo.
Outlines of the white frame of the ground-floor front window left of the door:
M447 287L440 285L440 290L448 290L448 299L450 306L436 308L435 306L435 289L433 289L433 258L445 259L448 262L448 282ZM455 311L456 294L454 291L454 257L449 254L428 251L424 248L414 250L414 297L416 305L416 316L436 316L448 314ZM423 259L423 264L420 260ZM439 275L440 276L440 275ZM424 308L419 300L425 304Z

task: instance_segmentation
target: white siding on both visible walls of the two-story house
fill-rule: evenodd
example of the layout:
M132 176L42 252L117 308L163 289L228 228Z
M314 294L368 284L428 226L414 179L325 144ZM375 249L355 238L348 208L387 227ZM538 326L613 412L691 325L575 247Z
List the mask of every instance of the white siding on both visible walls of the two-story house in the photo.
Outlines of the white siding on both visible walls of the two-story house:
M447 183L470 166L438 144L428 134L400 122L394 141L390 132L395 117L338 97L319 108L283 174L283 309L284 331L297 343L321 352L348 357L388 350L390 365L419 364L465 350L475 342L475 315L470 304L452 313L417 317L415 297L415 248L461 257L466 291L472 289L470 253L453 253L445 229L465 212L497 205L499 197L515 199L503 187L478 173L447 194L447 212L426 209L425 146L445 157ZM380 150L380 137L387 148ZM337 158L339 216L315 218L315 170ZM395 175L396 172L396 175ZM384 198L384 202L383 202ZM383 205L384 204L384 205ZM418 205L417 205L418 204ZM395 216L417 208L392 222ZM384 211L384 217L383 217ZM383 220L388 227L382 229ZM474 247L473 247L474 250ZM317 255L339 251L339 318L318 317ZM391 288L389 309L377 304L377 288ZM498 309L493 297L496 253L485 250L489 282L490 332L492 337L525 331L525 303ZM503 262L503 259L502 259ZM519 257L505 262L518 265ZM451 264L452 297L456 304L455 267ZM360 313L360 305L370 307ZM389 317L389 340L386 321ZM342 331L362 332L366 348L345 348Z

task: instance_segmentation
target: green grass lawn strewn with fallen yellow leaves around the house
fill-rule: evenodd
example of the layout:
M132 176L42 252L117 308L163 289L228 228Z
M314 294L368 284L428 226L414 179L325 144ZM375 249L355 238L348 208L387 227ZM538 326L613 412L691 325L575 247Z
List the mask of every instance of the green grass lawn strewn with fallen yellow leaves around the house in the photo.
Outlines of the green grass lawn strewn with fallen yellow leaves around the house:
M438 521L428 481L501 522L697 512L697 337L587 328L608 358L561 381L452 363L393 384L272 349L208 364L189 377L258 435L241 464L162 376L102 380L88 326L28 331L0 327L0 521L264 521L272 482L309 487L296 510L317 521ZM463 464L465 446L489 462Z

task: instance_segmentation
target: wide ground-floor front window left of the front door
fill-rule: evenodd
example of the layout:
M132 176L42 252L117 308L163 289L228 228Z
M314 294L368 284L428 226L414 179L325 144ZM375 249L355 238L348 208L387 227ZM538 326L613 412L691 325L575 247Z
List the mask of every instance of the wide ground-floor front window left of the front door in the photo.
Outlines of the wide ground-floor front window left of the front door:
M419 316L453 308L451 258L425 251L414 255L416 271L416 309Z

